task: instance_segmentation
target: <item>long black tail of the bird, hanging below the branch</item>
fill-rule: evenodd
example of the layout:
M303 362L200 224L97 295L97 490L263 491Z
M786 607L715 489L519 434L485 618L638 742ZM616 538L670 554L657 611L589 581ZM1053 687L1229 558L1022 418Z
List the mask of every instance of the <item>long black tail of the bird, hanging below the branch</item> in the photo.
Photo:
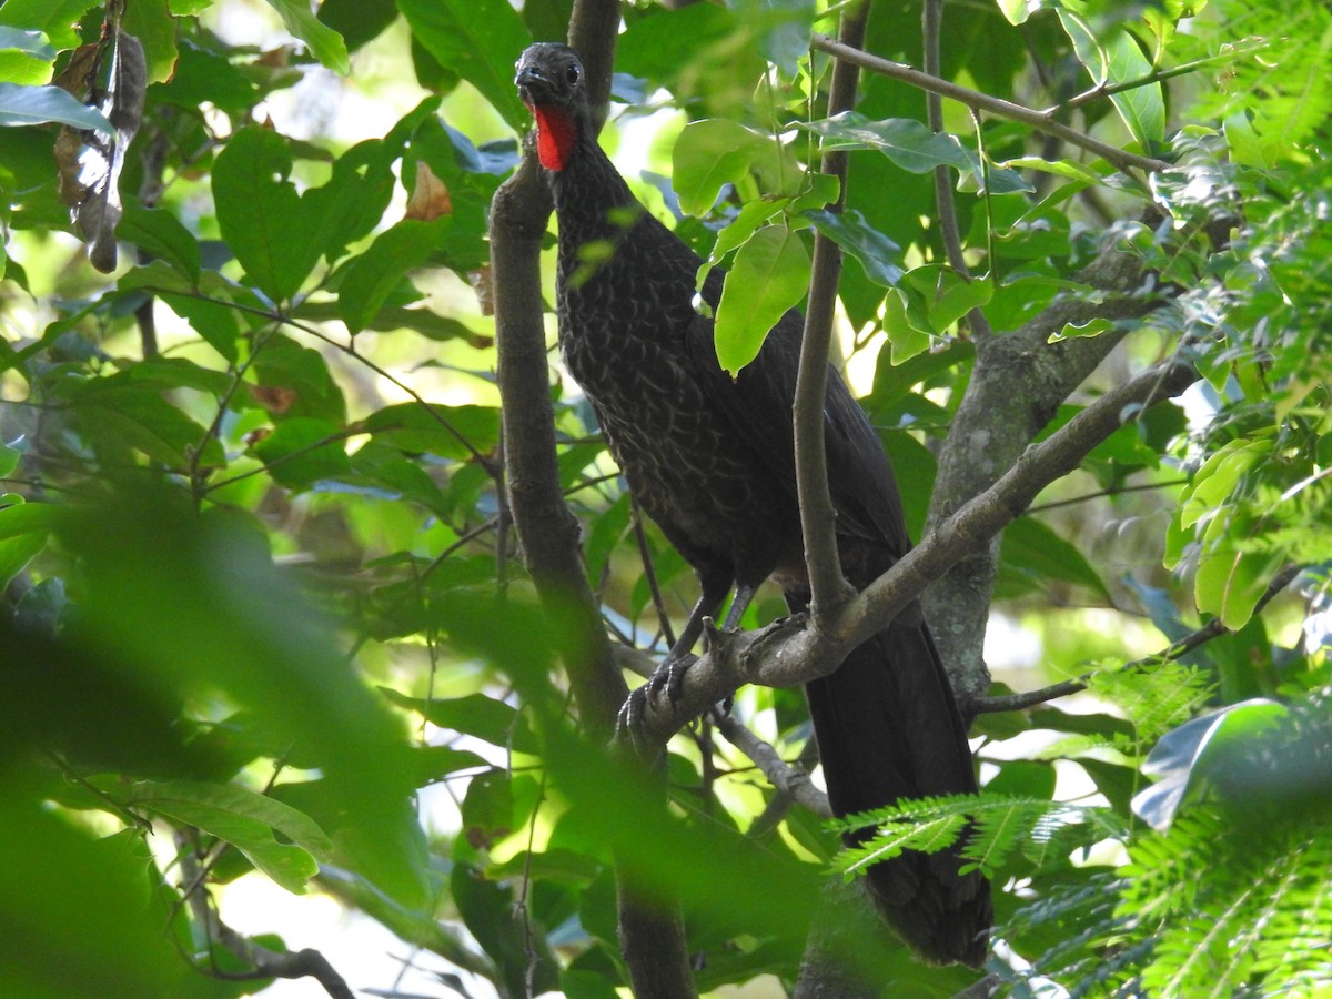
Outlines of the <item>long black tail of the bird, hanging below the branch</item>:
M838 815L975 793L962 715L919 610L904 611L806 694ZM990 883L960 875L960 864L954 851L908 851L868 870L870 895L926 959L979 967L992 919Z

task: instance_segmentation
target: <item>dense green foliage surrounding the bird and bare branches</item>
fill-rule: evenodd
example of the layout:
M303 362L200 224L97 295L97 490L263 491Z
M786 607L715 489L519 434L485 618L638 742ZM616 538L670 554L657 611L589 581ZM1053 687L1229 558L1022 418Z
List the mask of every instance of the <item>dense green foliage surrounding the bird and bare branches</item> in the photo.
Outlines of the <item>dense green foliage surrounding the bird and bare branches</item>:
M12 994L336 990L318 955L229 928L225 886L257 876L380 920L448 968L440 994L609 996L614 858L683 900L701 991L775 995L835 871L959 835L1002 890L1008 994L1329 987L1332 12L948 3L922 41L918 4L872 0L867 52L936 49L940 77L1048 107L1055 136L954 101L934 131L874 72L827 117L811 33L843 4L678 7L622 4L602 141L750 278L719 309L723 366L801 302L815 232L843 249L844 364L915 537L987 342L1106 345L1038 438L1163 358L1199 372L1123 412L998 549L995 607L1042 650L1024 686L1090 694L974 705L979 803L904 803L856 852L710 723L671 743L659 801L583 738L506 509L488 205L529 128L513 61L570 3L4 0ZM830 148L851 151L840 214ZM691 573L551 365L587 578L615 641L659 653ZM1007 421L984 437L1020 452ZM747 687L734 715L809 762L799 691ZM888 994L976 978L872 940Z

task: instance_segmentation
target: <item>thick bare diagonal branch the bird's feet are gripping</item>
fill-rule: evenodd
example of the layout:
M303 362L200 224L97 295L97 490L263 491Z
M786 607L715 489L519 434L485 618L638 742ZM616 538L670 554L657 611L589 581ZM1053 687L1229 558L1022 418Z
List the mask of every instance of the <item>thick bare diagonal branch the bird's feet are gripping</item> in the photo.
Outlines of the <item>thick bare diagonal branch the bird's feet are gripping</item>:
M717 635L711 650L685 674L678 701L649 699L639 738L665 743L743 683L786 687L827 675L926 586L1019 517L1044 486L1078 468L1122 425L1126 406L1151 406L1177 396L1196 380L1189 365L1169 360L1107 392L1047 440L1028 448L992 486L835 613L814 622L786 618L758 631Z

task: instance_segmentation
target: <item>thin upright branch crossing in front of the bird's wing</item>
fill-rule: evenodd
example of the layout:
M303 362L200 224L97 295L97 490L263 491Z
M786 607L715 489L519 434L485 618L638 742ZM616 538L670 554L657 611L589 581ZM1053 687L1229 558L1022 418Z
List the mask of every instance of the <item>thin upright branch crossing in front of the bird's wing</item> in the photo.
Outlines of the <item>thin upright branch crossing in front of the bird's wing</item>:
M839 40L859 48L864 41L868 4L851 7L842 15ZM836 61L829 91L829 117L855 104L859 69ZM846 152L823 155L822 169L839 181L834 212L846 200ZM801 500L801 531L805 539L806 571L810 575L810 609L818 617L835 610L846 599L846 583L836 550L836 514L829 493L827 456L823 440L823 401L827 394L829 348L832 341L832 312L842 276L842 250L822 233L814 237L814 266L810 274L810 301L801 341L801 366L795 378L795 484Z

